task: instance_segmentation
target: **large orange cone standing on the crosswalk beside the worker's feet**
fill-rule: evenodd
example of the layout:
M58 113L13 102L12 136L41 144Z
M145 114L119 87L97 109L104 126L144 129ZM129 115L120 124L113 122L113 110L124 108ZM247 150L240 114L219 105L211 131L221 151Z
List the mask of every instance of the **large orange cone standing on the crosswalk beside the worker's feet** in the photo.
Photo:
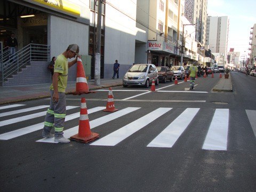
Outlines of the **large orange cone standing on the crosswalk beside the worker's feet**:
M87 143L97 138L99 138L99 134L91 132L90 122L86 108L86 101L85 98L82 98L78 134L73 135L72 137L70 137L70 139Z

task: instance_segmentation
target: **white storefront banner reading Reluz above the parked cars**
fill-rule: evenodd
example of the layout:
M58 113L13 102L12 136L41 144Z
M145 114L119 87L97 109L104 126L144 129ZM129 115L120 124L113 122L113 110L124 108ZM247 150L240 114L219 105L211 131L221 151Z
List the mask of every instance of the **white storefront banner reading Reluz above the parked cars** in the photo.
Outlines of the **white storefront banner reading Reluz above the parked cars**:
M176 46L170 43L161 42L161 41L148 41L148 50L164 51L164 52L174 54L174 50L176 50Z

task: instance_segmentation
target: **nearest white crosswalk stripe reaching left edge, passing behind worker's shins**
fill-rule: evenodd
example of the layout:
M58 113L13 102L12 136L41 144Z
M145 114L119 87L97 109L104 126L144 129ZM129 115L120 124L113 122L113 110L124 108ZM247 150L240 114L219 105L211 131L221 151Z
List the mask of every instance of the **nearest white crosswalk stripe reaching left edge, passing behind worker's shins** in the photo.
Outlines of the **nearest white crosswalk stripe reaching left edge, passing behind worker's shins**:
M106 107L95 107L95 108L89 109L88 114L95 113L95 112L103 110L105 108ZM71 115L67 115L66 118L65 118L65 122L70 121L70 120L75 119L75 118L78 118L79 115L80 115L80 112L74 113L74 114L71 114ZM12 139L12 138L16 138L16 137L19 137L21 135L31 133L33 131L42 130L43 127L44 127L44 122L38 123L38 124L35 124L35 125L31 125L31 126L28 126L28 127L24 127L22 129L19 129L19 130L15 130L15 131L7 132L7 133L4 133L4 134L0 134L0 140L9 140L9 139ZM41 135L41 133L40 133L40 135Z

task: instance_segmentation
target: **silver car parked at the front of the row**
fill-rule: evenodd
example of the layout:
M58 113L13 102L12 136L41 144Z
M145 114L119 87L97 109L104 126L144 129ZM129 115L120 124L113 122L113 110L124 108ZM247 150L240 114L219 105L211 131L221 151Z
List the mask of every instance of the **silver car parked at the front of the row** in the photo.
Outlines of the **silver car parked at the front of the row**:
M153 64L135 64L133 65L123 77L123 86L139 85L149 87L153 79L155 85L159 84L158 71Z

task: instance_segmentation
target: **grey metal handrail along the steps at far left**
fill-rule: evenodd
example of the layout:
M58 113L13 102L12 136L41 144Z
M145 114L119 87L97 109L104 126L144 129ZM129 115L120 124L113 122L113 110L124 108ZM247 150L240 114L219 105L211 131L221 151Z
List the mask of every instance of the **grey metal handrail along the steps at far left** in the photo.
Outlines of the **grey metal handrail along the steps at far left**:
M2 81L31 61L50 61L50 45L28 44L14 54L5 47L0 53Z

